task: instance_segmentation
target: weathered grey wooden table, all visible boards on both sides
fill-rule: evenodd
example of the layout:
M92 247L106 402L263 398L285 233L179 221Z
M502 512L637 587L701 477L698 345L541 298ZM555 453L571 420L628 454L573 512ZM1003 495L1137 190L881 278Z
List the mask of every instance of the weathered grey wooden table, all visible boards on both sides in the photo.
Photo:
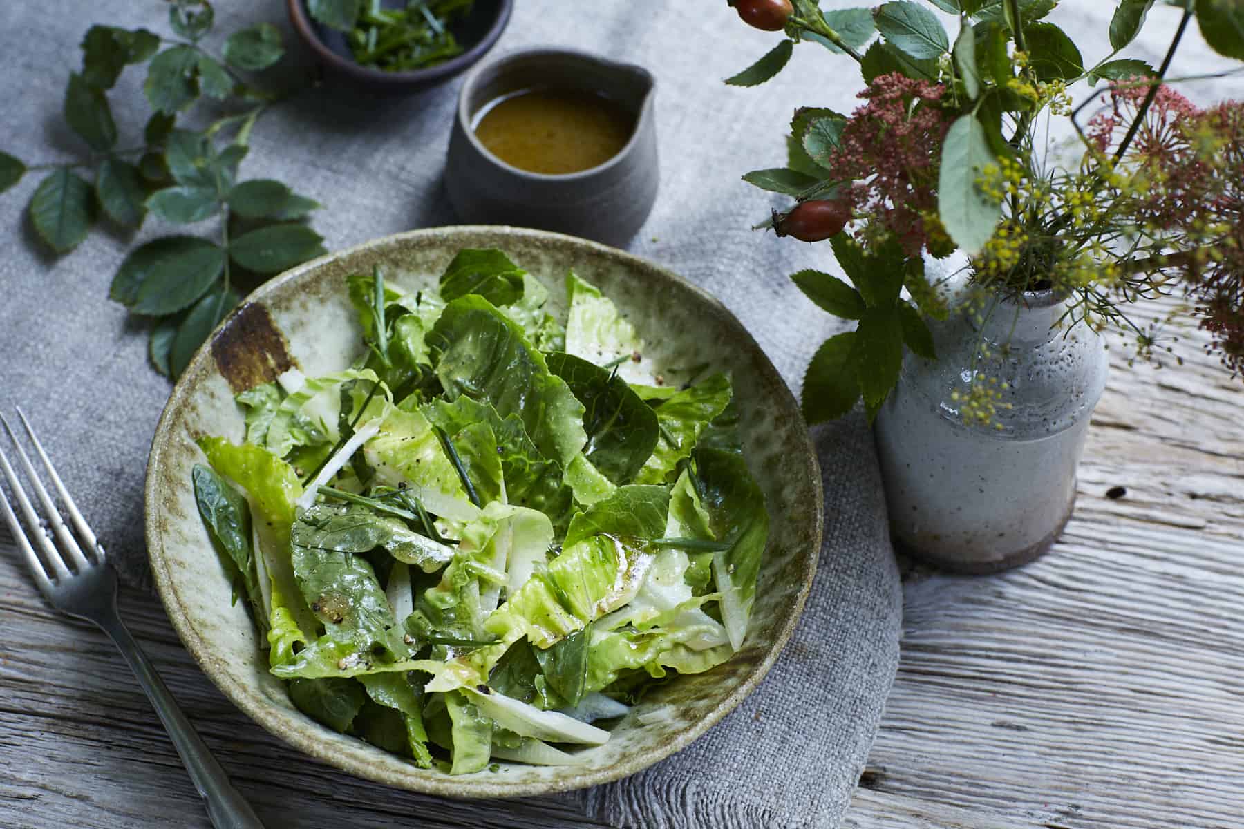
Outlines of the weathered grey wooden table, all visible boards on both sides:
M1113 350L1049 556L984 578L909 569L898 679L848 827L1244 827L1244 383L1203 341L1186 333L1178 370ZM270 827L592 825L541 800L481 822L471 803L295 757L211 686L154 598L122 604ZM44 604L7 537L0 620L0 824L208 825L112 645Z

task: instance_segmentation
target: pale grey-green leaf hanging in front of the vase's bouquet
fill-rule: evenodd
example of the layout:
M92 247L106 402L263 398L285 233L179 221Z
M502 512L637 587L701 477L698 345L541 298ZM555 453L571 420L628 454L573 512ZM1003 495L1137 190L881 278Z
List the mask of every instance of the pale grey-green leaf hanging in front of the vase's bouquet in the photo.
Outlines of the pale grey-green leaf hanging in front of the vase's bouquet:
M1000 216L999 201L977 186L982 169L994 160L979 121L960 116L950 124L942 145L938 215L950 239L968 255L975 255L989 241Z

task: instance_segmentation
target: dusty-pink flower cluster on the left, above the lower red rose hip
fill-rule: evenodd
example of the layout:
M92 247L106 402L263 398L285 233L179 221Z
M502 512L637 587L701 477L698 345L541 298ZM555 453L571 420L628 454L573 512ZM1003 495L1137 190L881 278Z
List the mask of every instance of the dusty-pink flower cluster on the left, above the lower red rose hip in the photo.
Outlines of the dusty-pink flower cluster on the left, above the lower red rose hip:
M950 128L939 106L944 92L898 72L877 76L829 159L833 178L853 183L846 198L856 216L894 234L911 256L940 230L928 227L926 215L937 211L938 159Z

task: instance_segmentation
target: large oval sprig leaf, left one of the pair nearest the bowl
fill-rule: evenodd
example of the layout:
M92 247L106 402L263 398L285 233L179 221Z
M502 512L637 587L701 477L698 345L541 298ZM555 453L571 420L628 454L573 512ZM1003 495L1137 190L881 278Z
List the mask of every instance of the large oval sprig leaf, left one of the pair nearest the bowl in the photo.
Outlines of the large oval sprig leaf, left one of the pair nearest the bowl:
M126 257L111 296L134 313L174 313L207 293L224 265L224 252L207 239L164 236Z

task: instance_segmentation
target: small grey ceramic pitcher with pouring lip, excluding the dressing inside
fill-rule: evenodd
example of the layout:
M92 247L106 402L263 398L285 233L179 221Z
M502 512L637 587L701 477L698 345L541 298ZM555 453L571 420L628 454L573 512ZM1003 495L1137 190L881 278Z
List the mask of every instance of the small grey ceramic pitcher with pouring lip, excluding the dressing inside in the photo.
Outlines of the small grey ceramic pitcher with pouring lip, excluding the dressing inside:
M654 86L639 66L564 48L522 50L474 70L458 98L445 165L445 188L458 218L626 244L657 199ZM475 137L474 122L489 102L542 87L597 92L617 101L634 113L631 139L610 160L578 173L549 175L506 164Z

